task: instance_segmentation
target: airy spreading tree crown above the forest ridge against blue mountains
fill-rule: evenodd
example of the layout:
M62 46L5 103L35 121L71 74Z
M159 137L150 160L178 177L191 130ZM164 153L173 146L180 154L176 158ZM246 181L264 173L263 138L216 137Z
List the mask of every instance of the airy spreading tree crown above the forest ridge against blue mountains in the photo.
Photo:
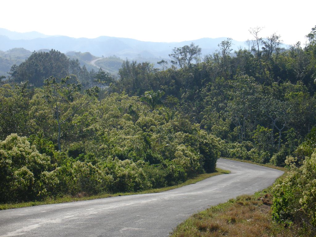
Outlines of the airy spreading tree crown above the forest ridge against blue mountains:
M199 62L201 56L201 48L198 45L195 46L194 43L181 48L175 47L172 52L169 54L171 63L180 68L191 67L191 62L193 60Z

